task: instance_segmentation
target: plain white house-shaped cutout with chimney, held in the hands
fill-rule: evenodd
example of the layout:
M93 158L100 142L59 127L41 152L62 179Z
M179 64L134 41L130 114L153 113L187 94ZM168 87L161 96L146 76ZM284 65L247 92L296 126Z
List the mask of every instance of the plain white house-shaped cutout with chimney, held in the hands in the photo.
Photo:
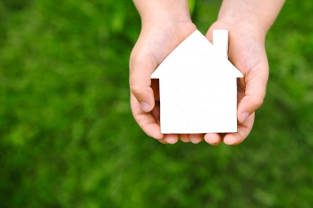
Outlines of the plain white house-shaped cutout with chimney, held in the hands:
M157 67L163 134L237 132L237 78L228 61L228 30L213 31L213 45L199 30Z

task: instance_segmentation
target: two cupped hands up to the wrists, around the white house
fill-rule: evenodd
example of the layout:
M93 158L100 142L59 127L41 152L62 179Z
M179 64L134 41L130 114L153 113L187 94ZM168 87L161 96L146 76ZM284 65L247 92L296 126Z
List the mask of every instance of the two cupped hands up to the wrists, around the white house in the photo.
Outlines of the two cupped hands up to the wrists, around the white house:
M208 29L206 37L211 43L213 29L229 30L229 60L244 76L238 81L238 131L228 134L163 135L159 126L158 81L150 79L150 76L165 57L196 30L196 26L190 18L177 20L168 16L142 25L139 40L131 52L131 111L140 128L161 143L174 144L181 139L197 144L204 139L213 146L223 141L227 145L238 145L250 134L255 111L266 94L266 34L249 24L239 26L226 17L217 20Z

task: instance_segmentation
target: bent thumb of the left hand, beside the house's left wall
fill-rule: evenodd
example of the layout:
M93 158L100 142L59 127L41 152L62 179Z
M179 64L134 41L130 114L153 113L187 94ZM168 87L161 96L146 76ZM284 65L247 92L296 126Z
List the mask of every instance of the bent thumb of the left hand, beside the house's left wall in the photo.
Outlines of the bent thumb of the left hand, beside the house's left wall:
M155 99L151 86L150 76L157 64L150 61L147 55L131 54L130 87L131 93L140 103L144 112L150 112L155 107Z

